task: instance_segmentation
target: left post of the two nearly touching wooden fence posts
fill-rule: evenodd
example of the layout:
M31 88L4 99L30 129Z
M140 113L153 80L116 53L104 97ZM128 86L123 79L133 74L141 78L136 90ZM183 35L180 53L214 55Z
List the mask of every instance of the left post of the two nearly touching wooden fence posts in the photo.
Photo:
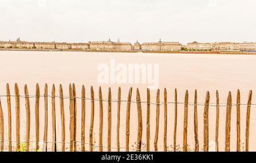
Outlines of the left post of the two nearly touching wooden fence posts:
M74 150L74 106L73 106L73 89L71 83L69 83L69 131L70 131L70 145L69 151L73 152Z

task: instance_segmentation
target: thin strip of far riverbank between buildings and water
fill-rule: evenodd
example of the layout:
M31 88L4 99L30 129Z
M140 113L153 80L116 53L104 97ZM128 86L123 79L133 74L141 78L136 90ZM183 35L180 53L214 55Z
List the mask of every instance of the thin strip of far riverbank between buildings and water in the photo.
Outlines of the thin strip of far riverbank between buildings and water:
M207 54L207 55L256 55L256 52L215 52L215 51L94 51L82 49L0 49L0 51L32 52L106 52L106 53L170 53L170 54Z

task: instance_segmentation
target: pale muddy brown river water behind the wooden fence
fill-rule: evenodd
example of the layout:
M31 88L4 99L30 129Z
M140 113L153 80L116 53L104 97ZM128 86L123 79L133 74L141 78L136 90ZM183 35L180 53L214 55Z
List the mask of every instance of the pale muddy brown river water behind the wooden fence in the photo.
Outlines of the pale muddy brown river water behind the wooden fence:
M139 87L142 101L146 101L147 84L100 84L97 81L99 74L97 67L99 64L110 64L111 59L115 62L128 64L159 64L159 88L160 101L163 101L163 90L167 87L168 102L174 102L174 90L177 89L179 102L184 102L185 90L189 91L189 102L194 101L194 91L197 89L198 101L204 103L207 91L210 91L210 103L216 102L216 90L220 94L220 103L226 103L229 91L232 91L232 103L236 103L237 89L241 91L241 103L247 103L249 90L253 90L253 103L256 103L254 92L256 90L256 56L254 55L197 55L197 54L155 54L155 53L93 53L93 52L26 52L26 51L0 51L1 72L0 72L0 94L6 94L6 83L10 84L10 92L14 95L15 82L19 85L20 95L24 95L24 84L28 85L30 95L35 95L36 83L40 85L40 94L43 95L44 83L48 83L48 93L51 93L51 86L54 83L56 95L59 95L59 84L63 85L64 95L68 96L69 83L76 84L77 96L81 97L81 87L85 85L86 98L90 98L90 86L94 87L94 96L98 98L98 87L102 87L104 99L108 98L108 87L112 88L112 99L117 99L118 87L122 88L122 100L127 100L130 87L133 87L132 100L136 100L136 88ZM151 91L151 101L156 101L156 90ZM7 121L7 101L6 97L1 97L3 113L5 117L5 140L8 139ZM108 102L104 102L104 126L103 144L108 143ZM121 104L121 126L120 126L120 146L121 151L125 151L125 127L126 127L126 102ZM35 99L30 99L31 107L31 141L35 141ZM116 126L117 126L117 102L112 103L112 151L116 147ZM48 99L48 141L52 139L51 122L51 98ZM250 121L250 151L256 151L256 111L255 106L251 107ZM69 99L64 99L65 110L65 147L69 148ZM150 115L150 145L154 150L155 136L155 110L156 106L151 105ZM11 98L12 111L12 132L15 141L15 99ZM160 128L158 149L163 151L163 132L164 132L164 108L160 106ZM40 141L43 140L44 128L44 101L40 98ZM204 107L198 107L198 126L199 126L199 145L203 148L203 113ZM90 101L86 100L86 122L85 122L85 141L89 143L90 126ZM220 108L220 151L225 149L225 114L226 108ZM142 141L146 143L146 105L142 104L143 134ZM178 105L177 120L177 145L183 145L183 116L184 106ZM25 139L26 114L24 98L20 99L20 138ZM209 108L209 142L210 149L214 149L216 108ZM246 106L241 106L241 143L245 149L245 123ZM98 145L99 130L99 105L95 102L94 118L94 144ZM130 122L130 148L135 149L134 143L137 141L137 105L131 104ZM231 149L236 151L236 107L232 108L231 123ZM57 141L61 141L61 123L59 98L56 98L56 132ZM81 135L81 100L77 99L77 141ZM167 145L173 145L174 137L174 105L168 105L168 127ZM188 108L188 144L189 149L193 150L194 128L193 128L193 106ZM7 141L5 148L7 149ZM81 147L78 143L79 148ZM134 145L134 148L133 148ZM13 143L15 149L15 143ZM40 143L42 148L42 143ZM48 144L51 147L51 144ZM31 143L31 150L35 148L35 143ZM86 144L86 150L89 145ZM144 148L146 149L146 148ZM172 149L171 147L169 148ZM57 144L57 150L61 150L61 145ZM98 147L94 149L98 151ZM104 148L106 151L107 148Z

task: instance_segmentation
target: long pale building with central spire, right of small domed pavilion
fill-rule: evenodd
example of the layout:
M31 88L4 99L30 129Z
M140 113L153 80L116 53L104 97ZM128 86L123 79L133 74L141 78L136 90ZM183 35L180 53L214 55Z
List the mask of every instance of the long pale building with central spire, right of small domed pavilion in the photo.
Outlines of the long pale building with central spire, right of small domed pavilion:
M143 43L141 45L142 51L181 51L182 45L177 42L162 42L158 43Z

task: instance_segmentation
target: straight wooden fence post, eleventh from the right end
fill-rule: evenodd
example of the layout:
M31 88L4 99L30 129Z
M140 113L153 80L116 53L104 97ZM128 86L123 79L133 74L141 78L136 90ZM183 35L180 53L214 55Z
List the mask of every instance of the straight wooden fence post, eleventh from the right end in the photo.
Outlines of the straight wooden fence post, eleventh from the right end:
M147 89L147 152L150 152L150 89Z

